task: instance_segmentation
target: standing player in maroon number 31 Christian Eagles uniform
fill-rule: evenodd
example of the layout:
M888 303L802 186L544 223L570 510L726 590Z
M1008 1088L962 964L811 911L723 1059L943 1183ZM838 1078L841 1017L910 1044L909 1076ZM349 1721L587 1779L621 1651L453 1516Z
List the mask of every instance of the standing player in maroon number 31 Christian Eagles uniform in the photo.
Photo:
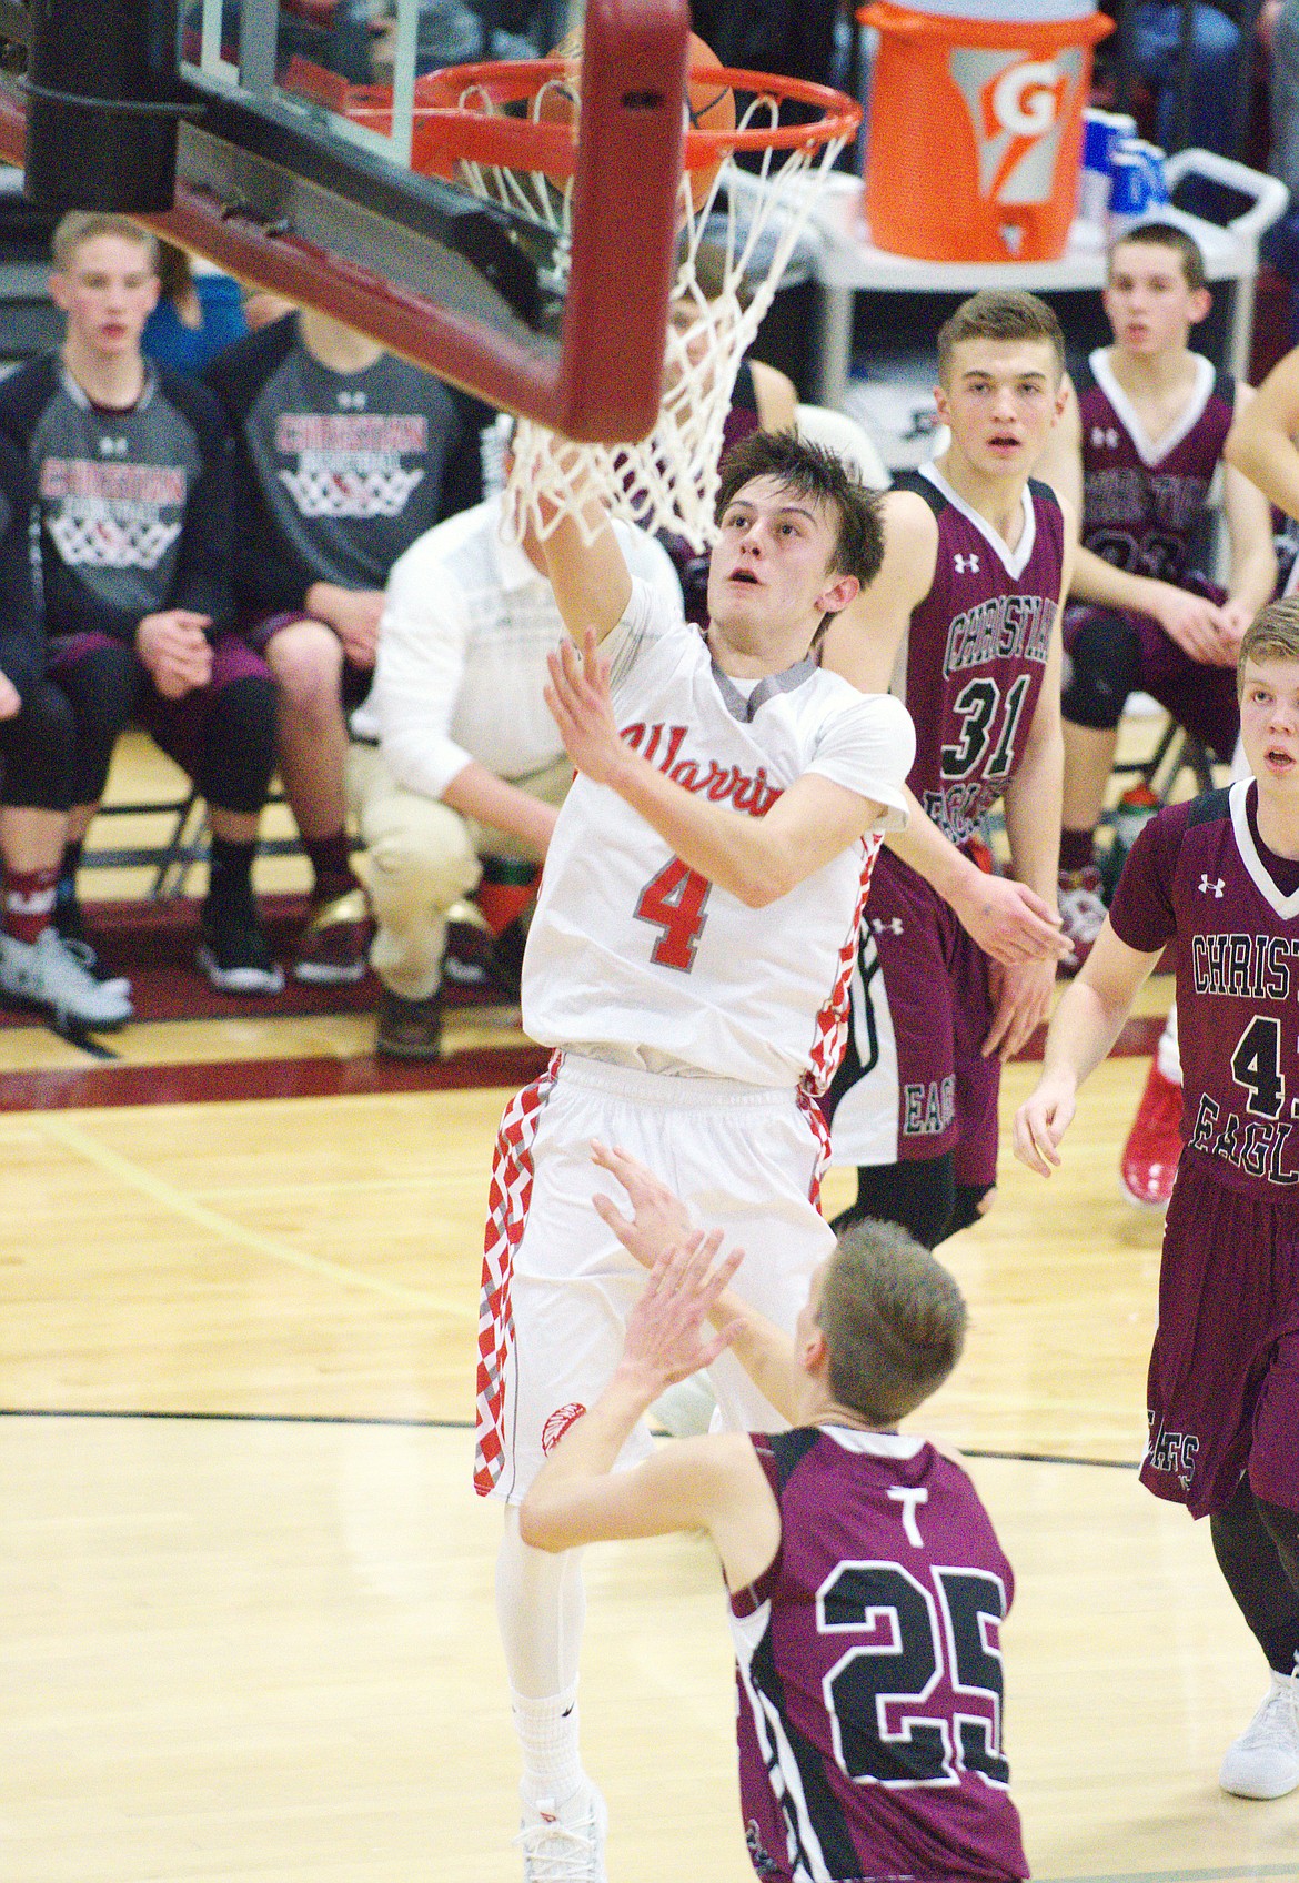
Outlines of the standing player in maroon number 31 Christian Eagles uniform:
M1060 599L1071 520L1030 478L1064 407L1064 337L1032 294L964 301L938 335L943 456L883 499L885 565L825 665L915 719L911 821L885 838L830 1086L851 1216L934 1247L996 1183L1000 1062L1047 1015L1056 958ZM1011 876L981 821L1005 806ZM838 1226L838 1224L836 1224Z

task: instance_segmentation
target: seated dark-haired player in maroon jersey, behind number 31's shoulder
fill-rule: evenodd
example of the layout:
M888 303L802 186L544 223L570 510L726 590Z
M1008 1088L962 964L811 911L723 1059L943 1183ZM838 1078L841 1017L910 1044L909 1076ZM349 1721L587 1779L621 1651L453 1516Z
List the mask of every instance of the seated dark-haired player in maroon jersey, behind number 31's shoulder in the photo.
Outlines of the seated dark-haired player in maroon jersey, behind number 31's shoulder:
M1115 343L1088 362L1069 443L1037 475L1082 516L1064 648L1064 830L1060 915L1079 966L1105 921L1096 827L1115 764L1118 719L1145 689L1229 763L1239 710L1235 650L1276 580L1271 514L1239 471L1222 507L1229 586L1192 567L1233 412L1250 397L1188 346L1209 313L1199 249L1148 222L1109 254L1105 313ZM1064 429L1064 427L1062 427Z

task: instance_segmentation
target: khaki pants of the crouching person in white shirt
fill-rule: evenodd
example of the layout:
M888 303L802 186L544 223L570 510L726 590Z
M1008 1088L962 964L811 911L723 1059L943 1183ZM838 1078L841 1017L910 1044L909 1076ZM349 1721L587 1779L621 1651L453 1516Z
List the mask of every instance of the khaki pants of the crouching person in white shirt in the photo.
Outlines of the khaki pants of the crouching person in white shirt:
M572 783L572 764L561 759L510 783L557 806ZM407 791L377 746L348 746L346 800L365 845L360 866L378 925L371 968L401 1000L425 1000L442 979L446 909L478 887L478 859L533 861L531 851L439 798Z

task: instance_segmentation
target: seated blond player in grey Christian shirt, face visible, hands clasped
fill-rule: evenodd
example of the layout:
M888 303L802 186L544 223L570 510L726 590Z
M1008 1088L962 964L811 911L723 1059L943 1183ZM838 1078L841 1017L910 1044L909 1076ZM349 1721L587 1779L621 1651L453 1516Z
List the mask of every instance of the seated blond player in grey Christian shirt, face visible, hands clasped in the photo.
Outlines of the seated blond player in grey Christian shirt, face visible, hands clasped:
M230 439L194 380L151 365L154 237L115 215L55 230L58 352L0 386L0 431L28 459L40 512L49 676L77 731L56 921L83 945L81 842L117 734L139 717L209 804L200 964L226 992L275 992L252 898L256 829L275 763L275 691L233 633Z

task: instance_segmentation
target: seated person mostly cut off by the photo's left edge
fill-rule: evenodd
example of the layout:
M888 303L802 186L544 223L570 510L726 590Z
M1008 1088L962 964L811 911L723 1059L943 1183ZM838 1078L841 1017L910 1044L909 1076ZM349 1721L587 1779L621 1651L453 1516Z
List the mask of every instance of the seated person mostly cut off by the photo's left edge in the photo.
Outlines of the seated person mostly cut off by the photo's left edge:
M68 834L77 731L45 680L45 636L32 599L32 482L0 435L0 992L49 1007L60 1022L120 1026L126 981L98 981L55 926L55 885Z

